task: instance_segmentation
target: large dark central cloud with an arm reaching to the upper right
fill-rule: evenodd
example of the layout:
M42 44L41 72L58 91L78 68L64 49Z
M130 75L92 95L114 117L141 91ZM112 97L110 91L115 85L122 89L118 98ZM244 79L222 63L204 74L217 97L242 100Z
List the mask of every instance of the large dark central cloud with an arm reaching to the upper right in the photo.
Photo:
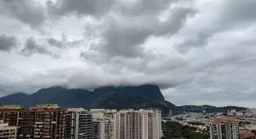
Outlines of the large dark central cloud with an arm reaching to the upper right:
M120 24L111 20L107 31L103 33L105 44L102 49L109 55L122 55L125 57L137 57L143 54L140 46L149 36L165 36L177 33L184 24L188 15L195 15L196 11L183 7L171 10L171 15L164 22L158 17L140 17L139 24L131 23L131 26ZM136 21L136 18L127 18L127 21ZM150 22L150 23L149 23ZM148 25L145 25L149 23Z

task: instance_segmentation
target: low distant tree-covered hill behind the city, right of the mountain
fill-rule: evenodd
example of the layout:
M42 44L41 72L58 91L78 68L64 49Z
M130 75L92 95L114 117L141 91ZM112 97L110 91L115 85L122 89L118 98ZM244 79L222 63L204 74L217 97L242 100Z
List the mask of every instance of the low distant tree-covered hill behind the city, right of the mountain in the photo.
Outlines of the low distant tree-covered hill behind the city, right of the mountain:
M247 108L237 107L237 106L215 107L215 106L209 106L209 105L202 105L202 106L185 105L185 106L177 107L178 113L181 113L181 112L203 112L203 111L206 111L207 113L227 112L228 110L232 110L232 109L235 109L236 111L245 111Z

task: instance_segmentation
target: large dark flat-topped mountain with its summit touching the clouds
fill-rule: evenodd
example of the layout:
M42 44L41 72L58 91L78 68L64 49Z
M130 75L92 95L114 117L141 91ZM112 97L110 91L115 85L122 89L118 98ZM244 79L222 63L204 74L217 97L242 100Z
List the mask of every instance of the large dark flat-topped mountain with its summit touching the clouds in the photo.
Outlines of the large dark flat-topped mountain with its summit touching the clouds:
M61 107L158 108L163 115L167 115L170 108L176 108L174 104L164 100L156 85L109 86L96 88L94 91L50 87L39 89L31 95L15 93L0 98L0 104L20 104L25 108L43 103L57 103Z

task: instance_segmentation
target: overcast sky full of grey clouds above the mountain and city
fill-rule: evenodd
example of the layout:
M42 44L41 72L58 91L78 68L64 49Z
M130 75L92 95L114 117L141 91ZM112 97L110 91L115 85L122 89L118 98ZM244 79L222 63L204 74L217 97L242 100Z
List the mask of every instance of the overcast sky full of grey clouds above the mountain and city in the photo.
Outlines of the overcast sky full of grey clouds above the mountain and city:
M0 96L159 85L176 104L256 107L255 0L0 0Z

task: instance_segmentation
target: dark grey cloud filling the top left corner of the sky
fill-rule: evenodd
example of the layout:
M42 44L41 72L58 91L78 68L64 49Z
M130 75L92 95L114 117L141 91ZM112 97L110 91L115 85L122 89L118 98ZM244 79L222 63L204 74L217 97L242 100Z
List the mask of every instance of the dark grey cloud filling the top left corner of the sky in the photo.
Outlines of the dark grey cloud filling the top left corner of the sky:
M38 28L46 20L45 12L41 6L36 5L36 1L30 0L2 0L4 13L10 14L28 24L31 28Z

